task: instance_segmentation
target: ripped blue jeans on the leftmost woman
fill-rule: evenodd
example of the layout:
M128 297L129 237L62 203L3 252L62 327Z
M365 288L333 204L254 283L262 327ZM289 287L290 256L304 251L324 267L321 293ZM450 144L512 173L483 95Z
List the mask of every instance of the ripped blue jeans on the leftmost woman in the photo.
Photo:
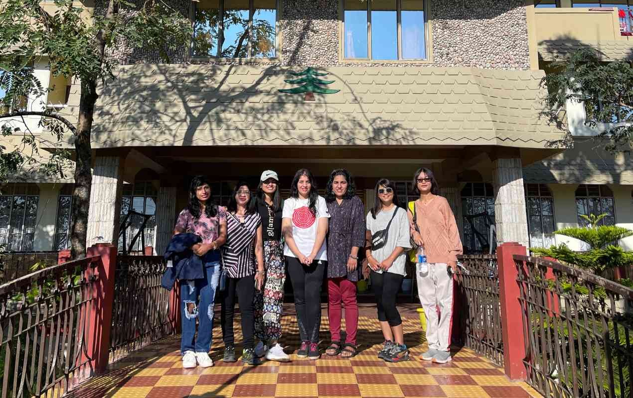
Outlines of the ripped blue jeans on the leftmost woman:
M220 262L205 263L205 279L180 280L180 353L208 353L213 331L215 290L220 280ZM198 297L199 296L199 297ZM196 318L198 335L196 339Z

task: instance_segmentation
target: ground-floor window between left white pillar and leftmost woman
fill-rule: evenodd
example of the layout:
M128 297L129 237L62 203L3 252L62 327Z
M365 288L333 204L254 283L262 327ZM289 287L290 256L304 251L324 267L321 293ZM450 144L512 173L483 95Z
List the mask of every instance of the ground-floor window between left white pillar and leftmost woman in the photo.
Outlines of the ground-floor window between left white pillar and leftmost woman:
M123 217L133 210L134 212L149 215L149 219L145 224L144 236L145 246L154 246L154 236L156 234L156 196L158 196L158 181L135 181L134 184L123 184L123 195L121 202L121 220ZM142 226L144 217L140 215L130 215L128 220L132 222L125 231L126 244L128 245L134 239ZM119 250L123 248L123 237L119 239ZM126 250L128 249L126 248ZM141 238L137 239L131 251L142 252Z

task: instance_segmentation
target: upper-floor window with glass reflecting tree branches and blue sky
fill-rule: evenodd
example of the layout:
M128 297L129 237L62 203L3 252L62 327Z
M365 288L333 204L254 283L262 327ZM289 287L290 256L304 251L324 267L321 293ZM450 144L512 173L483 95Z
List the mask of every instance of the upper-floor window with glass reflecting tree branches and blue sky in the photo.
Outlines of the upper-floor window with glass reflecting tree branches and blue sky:
M194 3L192 56L277 57L277 0Z

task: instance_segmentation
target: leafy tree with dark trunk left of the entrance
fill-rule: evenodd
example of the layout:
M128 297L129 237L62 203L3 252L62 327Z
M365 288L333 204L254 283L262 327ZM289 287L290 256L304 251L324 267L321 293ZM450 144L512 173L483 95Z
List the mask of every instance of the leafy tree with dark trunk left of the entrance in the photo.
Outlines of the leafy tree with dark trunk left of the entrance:
M72 0L54 0L55 11L47 12L39 0L4 0L0 3L0 68L6 90L0 109L2 118L41 116L44 126L56 131L61 139L64 131L74 136L75 188L71 227L73 257L85 255L88 207L91 190L91 131L97 102L97 87L114 79L116 59L109 56L117 45L132 49L156 51L163 62L169 54L191 40L191 21L161 0L129 3L125 0L104 0L91 17L73 6ZM49 3L50 5L50 3ZM16 106L25 95L43 96L48 90L32 69L26 66L46 56L54 76L76 78L81 82L81 98L77 124L53 109L28 111ZM25 72L26 71L26 72ZM5 124L6 126L6 124ZM16 128L4 127L3 135L15 134ZM27 140L28 141L28 140ZM36 143L27 143L31 148ZM16 153L17 151L17 153ZM23 161L23 151L3 152L0 167L10 172ZM22 158L21 158L22 157Z

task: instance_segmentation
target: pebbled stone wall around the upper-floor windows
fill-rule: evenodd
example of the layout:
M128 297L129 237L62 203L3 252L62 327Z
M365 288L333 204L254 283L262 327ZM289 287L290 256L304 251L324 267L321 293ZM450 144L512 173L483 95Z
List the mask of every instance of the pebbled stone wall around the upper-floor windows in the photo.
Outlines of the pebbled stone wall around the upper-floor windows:
M340 0L282 1L279 33L283 66L380 66L339 62ZM172 4L183 15L189 15L191 0L172 0ZM384 65L529 69L524 0L428 0L427 4L433 63ZM161 63L157 54L132 51L125 43L120 43L112 55L122 64ZM171 62L216 63L189 59L187 49L171 54Z

